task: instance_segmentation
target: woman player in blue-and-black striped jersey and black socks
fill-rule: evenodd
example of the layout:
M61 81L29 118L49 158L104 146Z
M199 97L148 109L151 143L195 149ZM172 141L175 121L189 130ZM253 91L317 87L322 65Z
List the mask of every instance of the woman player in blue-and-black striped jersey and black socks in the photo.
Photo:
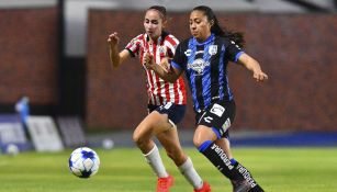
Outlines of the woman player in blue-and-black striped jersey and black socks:
M193 9L190 31L192 37L178 45L170 67L166 67L168 59L161 67L154 65L151 55L145 57L146 66L171 82L186 71L196 113L195 147L232 181L234 192L262 192L250 172L231 154L228 128L234 121L235 102L226 67L228 61L240 64L257 81L265 81L268 76L258 61L241 50L243 35L222 30L211 8Z

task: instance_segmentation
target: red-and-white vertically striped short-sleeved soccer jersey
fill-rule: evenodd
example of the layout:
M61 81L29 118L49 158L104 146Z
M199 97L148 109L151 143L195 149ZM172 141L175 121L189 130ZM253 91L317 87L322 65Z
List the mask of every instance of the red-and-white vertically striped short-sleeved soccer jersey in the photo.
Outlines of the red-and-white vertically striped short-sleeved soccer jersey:
M175 83L162 80L153 70L147 69L143 64L143 57L148 52L154 55L156 64L165 57L172 58L179 41L171 34L164 32L157 42L150 42L147 34L141 34L133 38L125 47L132 56L138 56L147 77L148 103L161 105L168 102L186 104L186 86L182 77Z

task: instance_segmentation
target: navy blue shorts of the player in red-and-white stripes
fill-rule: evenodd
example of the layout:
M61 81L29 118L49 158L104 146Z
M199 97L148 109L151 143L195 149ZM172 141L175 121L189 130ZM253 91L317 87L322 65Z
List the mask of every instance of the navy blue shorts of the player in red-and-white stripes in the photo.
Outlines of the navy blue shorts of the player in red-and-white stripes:
M153 111L157 111L160 114L167 114L168 118L173 122L176 125L181 122L184 112L186 112L186 105L184 104L175 104L171 102L168 102L162 105L147 105L148 112L151 113Z

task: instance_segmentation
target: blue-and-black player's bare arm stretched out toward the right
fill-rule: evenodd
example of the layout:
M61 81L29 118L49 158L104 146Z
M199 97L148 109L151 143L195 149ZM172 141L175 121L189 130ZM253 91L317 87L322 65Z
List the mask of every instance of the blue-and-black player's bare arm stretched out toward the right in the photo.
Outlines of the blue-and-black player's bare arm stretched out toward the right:
M241 64L250 70L252 72L252 78L256 79L256 81L266 81L268 79L268 76L261 70L259 63L249 55L245 53L240 55L238 64Z

